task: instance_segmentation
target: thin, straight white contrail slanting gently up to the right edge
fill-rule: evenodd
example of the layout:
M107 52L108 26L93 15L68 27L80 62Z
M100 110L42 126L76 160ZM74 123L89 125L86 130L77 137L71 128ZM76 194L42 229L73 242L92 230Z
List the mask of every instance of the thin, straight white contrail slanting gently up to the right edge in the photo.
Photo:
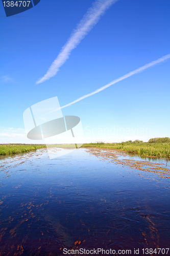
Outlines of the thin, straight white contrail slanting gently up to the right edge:
M124 75L124 76L121 76L121 77L119 77L119 78L113 80L113 81L110 82L110 83L107 83L106 86L103 86L103 87L101 87L101 88L95 90L95 91L92 92L92 93L86 94L86 95L84 95L84 96L82 96L82 97L80 97L80 98L78 98L78 99L76 99L76 100L74 100L74 101L72 101L72 102L70 102L70 103L68 103L68 104L66 104L66 105L64 105L64 106L62 106L61 109L66 108L67 106L70 106L70 105L72 105L72 104L75 104L75 103L79 102L80 100L85 99L85 98L88 98L88 97L90 97L90 96L92 96L92 95L94 95L94 94L96 94L96 93L99 93L99 92L105 90L106 88L112 86L113 84L115 84L115 83L117 83L117 82L119 82L119 81L122 81L122 80L124 80L124 79L126 79L126 78L128 78L128 77L130 77L130 76L133 76L133 75L135 75L135 74L137 74L137 73L139 73L139 72L142 72L142 71L144 71L145 69L148 69L148 68L150 68L150 67L152 67L152 66L154 66L154 65L156 65L156 64L158 64L158 63L160 63L160 62L162 62L162 61L164 61L164 60L166 60L166 59L169 59L169 58L170 58L170 54L164 55L164 56L162 56L161 58L159 58L159 59L157 59L157 60L154 60L154 61L152 61L152 62L150 62L150 63L148 63L148 64L145 64L144 66L142 66L142 67L140 67L140 68L138 68L138 69L135 69L134 71L131 71L131 72L129 72L128 74L126 74L126 75Z

